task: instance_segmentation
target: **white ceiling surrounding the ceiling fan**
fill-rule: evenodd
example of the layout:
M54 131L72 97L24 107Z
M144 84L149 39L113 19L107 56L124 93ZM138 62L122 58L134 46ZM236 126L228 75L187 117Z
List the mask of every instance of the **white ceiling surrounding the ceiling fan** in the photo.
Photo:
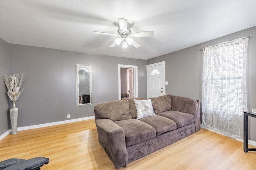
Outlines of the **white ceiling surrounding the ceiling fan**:
M151 59L256 26L256 0L0 0L0 37L8 43ZM108 47L118 18L141 47Z

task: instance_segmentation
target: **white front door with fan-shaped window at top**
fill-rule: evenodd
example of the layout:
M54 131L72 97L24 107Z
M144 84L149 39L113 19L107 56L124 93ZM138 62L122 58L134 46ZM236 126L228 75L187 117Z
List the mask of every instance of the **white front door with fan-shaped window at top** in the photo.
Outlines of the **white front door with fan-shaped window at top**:
M147 98L165 95L165 61L147 65Z

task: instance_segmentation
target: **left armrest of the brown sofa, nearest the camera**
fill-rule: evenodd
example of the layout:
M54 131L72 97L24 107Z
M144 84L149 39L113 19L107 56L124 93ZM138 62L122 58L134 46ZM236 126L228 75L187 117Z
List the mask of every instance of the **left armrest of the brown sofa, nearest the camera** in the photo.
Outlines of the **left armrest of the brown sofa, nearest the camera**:
M128 164L124 129L110 119L95 118L99 143L103 146L115 168Z

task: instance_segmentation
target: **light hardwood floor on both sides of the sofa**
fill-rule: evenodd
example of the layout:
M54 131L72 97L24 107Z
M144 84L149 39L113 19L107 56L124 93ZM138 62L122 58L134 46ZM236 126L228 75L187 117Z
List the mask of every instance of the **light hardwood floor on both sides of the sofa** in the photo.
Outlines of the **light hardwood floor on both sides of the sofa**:
M115 169L102 146L94 119L19 131L0 141L0 161L50 158L41 170ZM202 129L128 164L126 170L255 170L256 152L243 143Z

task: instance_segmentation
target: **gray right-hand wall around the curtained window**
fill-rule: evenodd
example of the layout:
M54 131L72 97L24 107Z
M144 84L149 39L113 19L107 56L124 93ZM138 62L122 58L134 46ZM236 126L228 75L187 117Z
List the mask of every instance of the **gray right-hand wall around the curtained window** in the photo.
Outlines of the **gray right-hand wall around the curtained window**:
M256 27L150 59L147 64L166 61L166 81L169 82L169 85L166 85L166 94L187 96L202 101L202 51L198 50L247 36L251 37L247 60L248 104L251 110L256 108ZM256 119L254 118L250 120L250 129L256 129ZM250 139L256 141L256 131L251 131Z

